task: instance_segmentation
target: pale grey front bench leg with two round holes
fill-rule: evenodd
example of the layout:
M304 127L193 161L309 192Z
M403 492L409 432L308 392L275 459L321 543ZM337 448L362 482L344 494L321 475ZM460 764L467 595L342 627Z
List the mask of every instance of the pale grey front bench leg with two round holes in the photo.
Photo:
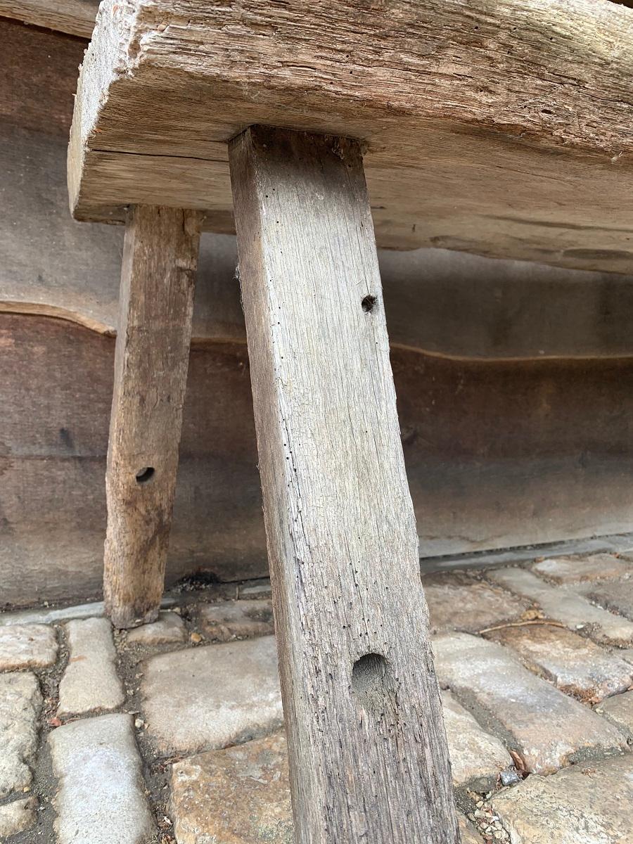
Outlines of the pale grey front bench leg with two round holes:
M297 841L455 844L357 143L230 144Z

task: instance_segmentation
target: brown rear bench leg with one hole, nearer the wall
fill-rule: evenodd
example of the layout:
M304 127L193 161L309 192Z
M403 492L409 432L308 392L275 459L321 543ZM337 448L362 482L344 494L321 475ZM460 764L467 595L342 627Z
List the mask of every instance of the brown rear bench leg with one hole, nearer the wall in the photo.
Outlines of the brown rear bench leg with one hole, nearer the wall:
M123 248L106 473L106 611L158 615L176 487L200 216L138 205Z

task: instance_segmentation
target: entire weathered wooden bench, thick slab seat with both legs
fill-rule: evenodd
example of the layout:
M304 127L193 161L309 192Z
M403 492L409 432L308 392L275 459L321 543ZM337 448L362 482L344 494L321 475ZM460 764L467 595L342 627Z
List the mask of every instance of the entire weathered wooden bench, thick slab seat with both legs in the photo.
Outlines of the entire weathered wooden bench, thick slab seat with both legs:
M298 841L458 840L376 240L629 269L632 41L608 0L100 7L68 183L127 225L106 601L157 612L197 238L235 226Z

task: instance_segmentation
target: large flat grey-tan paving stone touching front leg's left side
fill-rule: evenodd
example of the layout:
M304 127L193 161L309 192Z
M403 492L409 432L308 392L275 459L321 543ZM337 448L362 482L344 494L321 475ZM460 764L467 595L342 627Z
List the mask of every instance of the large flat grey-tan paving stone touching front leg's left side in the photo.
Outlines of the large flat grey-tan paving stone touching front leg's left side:
M273 636L151 657L141 692L161 755L239 744L283 724Z

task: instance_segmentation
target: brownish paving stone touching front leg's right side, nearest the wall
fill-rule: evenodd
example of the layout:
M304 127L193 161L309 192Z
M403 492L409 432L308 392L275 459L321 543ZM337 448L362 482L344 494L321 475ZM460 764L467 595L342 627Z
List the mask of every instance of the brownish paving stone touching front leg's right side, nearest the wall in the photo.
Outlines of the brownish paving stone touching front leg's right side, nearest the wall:
M430 629L466 630L516 619L529 602L463 573L426 575L422 578L429 605Z

